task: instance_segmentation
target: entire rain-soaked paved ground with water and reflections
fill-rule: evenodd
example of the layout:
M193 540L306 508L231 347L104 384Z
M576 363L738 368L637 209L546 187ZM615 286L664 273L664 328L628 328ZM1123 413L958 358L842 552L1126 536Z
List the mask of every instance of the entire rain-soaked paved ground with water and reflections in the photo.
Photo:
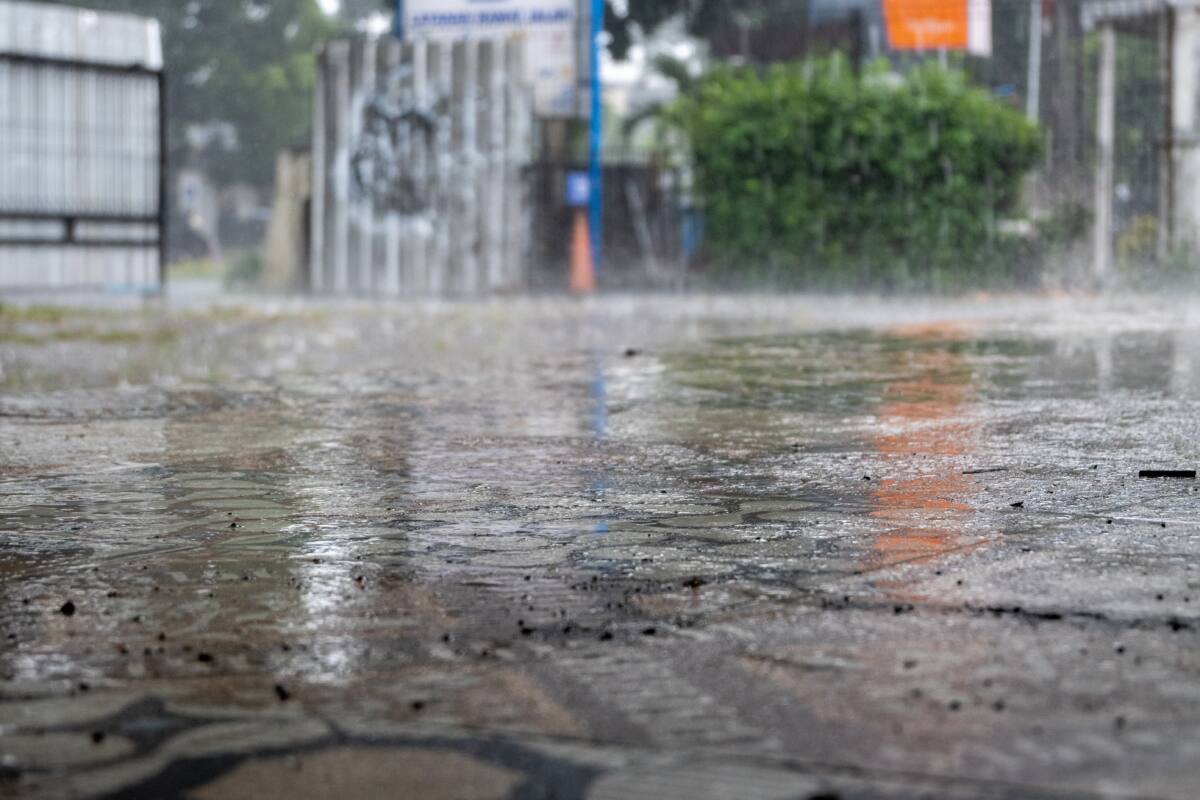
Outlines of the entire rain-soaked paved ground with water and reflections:
M0 795L1200 796L1200 306L0 309Z

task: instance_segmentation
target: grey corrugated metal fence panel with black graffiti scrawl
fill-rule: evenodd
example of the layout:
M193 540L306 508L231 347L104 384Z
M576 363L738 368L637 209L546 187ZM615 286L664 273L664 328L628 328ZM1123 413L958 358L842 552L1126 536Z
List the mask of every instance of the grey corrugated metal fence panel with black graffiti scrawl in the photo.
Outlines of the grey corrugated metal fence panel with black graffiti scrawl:
M313 291L445 296L527 285L524 74L518 40L358 37L322 52Z

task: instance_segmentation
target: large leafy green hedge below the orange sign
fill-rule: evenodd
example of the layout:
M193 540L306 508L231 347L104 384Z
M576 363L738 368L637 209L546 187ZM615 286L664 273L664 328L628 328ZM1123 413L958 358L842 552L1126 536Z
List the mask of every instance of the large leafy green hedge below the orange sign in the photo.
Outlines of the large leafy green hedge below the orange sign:
M839 56L719 67L671 110L690 142L706 253L727 278L959 288L1019 279L1018 211L1040 136L936 65L856 74Z

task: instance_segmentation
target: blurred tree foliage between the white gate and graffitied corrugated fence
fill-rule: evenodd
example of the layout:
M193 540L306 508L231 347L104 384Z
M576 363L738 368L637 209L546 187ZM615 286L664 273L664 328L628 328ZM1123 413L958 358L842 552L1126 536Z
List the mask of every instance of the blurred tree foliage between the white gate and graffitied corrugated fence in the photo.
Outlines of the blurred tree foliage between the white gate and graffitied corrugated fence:
M307 142L313 54L332 29L316 0L50 1L158 19L172 151L184 151L188 126L220 121L236 131L235 150L204 154L217 180L266 185L275 154Z

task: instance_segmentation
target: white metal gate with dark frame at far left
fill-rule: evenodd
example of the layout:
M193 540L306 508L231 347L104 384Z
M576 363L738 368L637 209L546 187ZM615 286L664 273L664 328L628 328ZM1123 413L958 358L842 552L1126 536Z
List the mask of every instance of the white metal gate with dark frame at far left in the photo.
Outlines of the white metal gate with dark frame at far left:
M158 24L0 2L0 288L157 290Z

